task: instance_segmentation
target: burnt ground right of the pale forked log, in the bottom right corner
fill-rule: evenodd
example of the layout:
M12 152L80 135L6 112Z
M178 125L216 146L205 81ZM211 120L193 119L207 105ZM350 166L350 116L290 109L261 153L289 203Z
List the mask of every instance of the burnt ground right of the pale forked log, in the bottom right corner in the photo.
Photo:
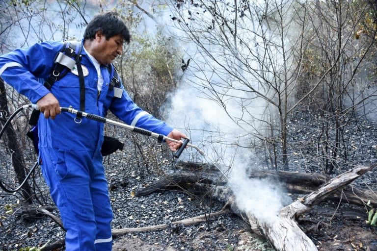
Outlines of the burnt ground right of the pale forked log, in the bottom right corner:
M366 212L352 205L324 202L299 220L322 251L376 251L377 227L365 223Z

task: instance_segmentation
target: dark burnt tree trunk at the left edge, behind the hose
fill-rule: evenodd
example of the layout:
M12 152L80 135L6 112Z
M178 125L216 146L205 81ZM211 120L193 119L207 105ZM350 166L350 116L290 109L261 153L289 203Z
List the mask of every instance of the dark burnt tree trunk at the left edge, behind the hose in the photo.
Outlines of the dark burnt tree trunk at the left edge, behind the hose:
M1 112L0 121L1 121L1 124L4 125L7 120L6 116L9 115L9 108L8 108L8 100L6 98L6 92L5 92L5 84L1 78L0 78L0 112ZM6 128L5 135L6 135L7 140L4 140L4 142L6 143L6 146L9 149L9 151L12 151L11 160L12 160L14 171L17 176L16 179L18 180L20 184L22 184L22 182L26 178L26 172L25 172L26 167L24 163L23 154L20 151L20 147L17 142L16 132L11 124L9 124L9 126ZM1 180L1 181L4 181L4 180ZM21 189L22 189L22 195L24 199L28 203L31 204L32 193L31 193L30 185L27 182L25 182L25 184L23 185Z

